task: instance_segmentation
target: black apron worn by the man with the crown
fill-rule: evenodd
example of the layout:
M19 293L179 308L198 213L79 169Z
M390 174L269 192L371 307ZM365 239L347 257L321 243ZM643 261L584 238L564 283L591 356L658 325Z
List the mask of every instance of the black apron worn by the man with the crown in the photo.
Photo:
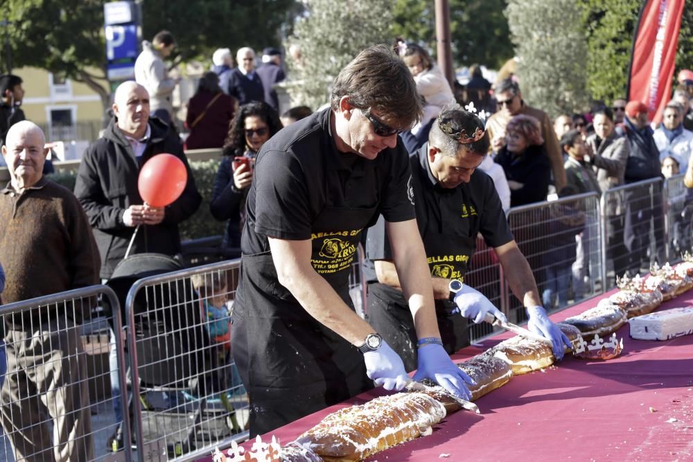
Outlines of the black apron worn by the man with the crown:
M423 171L420 171L421 173ZM428 181L422 179L421 181ZM420 184L415 186L419 186ZM419 189L421 190L421 189ZM444 192L445 193L445 192ZM432 193L433 198L437 195ZM465 197L466 204L470 204ZM423 246L428 258L428 269L431 276L445 279L464 278L466 269L476 250L477 232L475 220L478 220L476 206L462 211L464 220L468 220L466 233L452 234L442 229L440 216L426 206L426 201L420 195L416 199L416 217L425 223L423 231ZM462 208L462 204L461 207ZM473 213L470 211L472 210ZM430 215L434 215L431 217ZM420 230L421 231L421 230ZM472 236L473 235L473 236ZM368 321L375 330L383 336L387 344L399 353L407 372L418 366L416 330L412 313L404 299L401 290L380 283L368 286ZM454 302L436 300L436 317L438 329L445 350L453 354L469 344L467 320L459 314Z

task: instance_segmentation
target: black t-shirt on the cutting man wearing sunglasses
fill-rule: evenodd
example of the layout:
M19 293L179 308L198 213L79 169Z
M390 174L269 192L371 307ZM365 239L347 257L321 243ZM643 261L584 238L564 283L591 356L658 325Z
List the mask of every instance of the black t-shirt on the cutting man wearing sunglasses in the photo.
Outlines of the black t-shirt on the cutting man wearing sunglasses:
M375 214L389 222L414 218L407 195L410 165L401 141L373 160L339 152L331 114L326 109L304 118L263 145L247 198L243 254L269 251L267 236L310 239L312 224L326 206L375 207Z

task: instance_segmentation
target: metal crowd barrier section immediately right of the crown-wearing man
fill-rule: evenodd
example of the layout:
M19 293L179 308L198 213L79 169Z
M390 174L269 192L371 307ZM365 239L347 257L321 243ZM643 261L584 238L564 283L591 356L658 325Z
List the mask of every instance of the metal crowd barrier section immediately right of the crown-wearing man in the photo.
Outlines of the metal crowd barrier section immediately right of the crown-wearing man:
M507 217L547 311L602 292L602 220L597 193L514 207ZM509 319L525 320L523 301L512 295L505 278L502 284L506 305L500 305Z

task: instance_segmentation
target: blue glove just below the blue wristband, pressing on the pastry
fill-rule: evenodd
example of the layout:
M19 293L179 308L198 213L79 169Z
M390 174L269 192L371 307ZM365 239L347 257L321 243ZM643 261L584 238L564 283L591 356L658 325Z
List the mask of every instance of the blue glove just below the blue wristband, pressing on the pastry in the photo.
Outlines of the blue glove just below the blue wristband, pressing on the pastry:
M414 380L429 378L441 387L463 400L471 400L466 383L475 385L476 382L466 375L462 369L455 366L450 355L442 345L426 344L419 348L419 370Z

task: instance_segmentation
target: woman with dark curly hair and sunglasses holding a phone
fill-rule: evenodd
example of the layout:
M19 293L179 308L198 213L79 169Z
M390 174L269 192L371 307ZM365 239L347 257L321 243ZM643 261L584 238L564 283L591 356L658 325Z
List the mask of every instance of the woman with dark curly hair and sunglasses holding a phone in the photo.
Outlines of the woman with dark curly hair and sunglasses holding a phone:
M229 220L222 247L240 247L245 198L253 179L253 163L265 141L281 130L277 111L266 103L243 105L229 124L209 209L216 220Z

